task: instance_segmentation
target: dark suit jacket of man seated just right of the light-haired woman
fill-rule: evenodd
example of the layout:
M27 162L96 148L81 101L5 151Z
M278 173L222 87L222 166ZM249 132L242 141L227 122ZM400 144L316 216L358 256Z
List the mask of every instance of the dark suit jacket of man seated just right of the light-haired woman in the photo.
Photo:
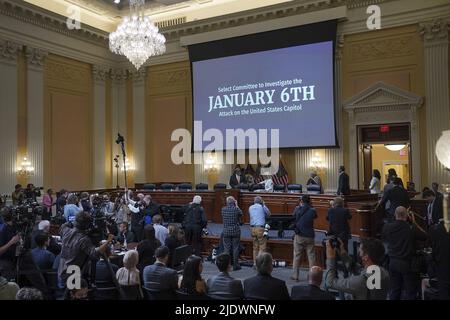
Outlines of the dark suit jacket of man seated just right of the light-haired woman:
M173 291L178 289L178 275L173 269L167 268L160 262L155 262L144 268L144 287L160 292Z

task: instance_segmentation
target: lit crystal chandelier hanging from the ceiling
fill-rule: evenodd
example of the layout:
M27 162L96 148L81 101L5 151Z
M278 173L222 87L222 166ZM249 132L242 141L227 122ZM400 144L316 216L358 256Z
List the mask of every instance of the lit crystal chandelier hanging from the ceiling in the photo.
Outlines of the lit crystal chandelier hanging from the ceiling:
M130 17L109 35L109 49L124 55L137 70L151 56L166 52L166 38L159 33L158 27L144 16L145 0L130 0Z

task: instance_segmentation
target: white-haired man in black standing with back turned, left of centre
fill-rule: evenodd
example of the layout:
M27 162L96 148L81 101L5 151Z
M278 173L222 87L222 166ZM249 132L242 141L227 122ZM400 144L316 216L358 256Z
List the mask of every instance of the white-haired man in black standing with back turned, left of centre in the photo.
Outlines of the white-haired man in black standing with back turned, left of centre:
M186 208L183 220L186 243L192 246L194 254L199 257L201 257L202 230L208 224L201 202L202 198L200 196L194 196L192 202Z

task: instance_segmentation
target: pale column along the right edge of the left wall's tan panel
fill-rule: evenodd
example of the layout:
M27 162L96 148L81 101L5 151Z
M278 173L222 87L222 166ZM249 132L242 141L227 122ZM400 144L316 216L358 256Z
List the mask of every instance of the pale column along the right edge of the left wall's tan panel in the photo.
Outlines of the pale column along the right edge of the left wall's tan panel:
M93 154L94 172L93 187L95 189L105 188L106 172L105 167L105 108L106 108L106 79L109 76L109 68L103 66L92 66L92 78L94 80L94 121L93 121Z

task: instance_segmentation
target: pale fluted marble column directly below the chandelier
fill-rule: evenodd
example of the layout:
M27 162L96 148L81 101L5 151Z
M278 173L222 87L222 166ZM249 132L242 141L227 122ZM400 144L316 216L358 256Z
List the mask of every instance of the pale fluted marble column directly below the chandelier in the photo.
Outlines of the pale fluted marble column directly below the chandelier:
M141 68L133 73L133 161L135 183L146 180L146 144L145 144L145 79L147 69Z

